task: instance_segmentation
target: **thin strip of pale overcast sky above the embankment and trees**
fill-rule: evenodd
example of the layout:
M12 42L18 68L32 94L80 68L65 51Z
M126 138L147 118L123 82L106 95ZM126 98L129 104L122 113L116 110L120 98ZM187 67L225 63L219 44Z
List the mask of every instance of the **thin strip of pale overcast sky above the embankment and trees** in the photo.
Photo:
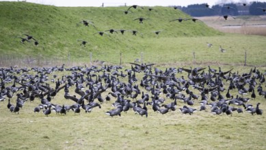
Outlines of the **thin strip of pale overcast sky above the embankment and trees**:
M1 1L1 0L0 0ZM17 1L17 0L13 0ZM22 1L22 0L19 0ZM169 5L181 5L187 6L196 3L208 3L209 5L215 5L218 3L230 3L230 2L240 2L249 3L252 0L27 0L32 3L40 3L44 5L55 5L55 6L101 6L105 3L105 6L118 6L124 5L142 5L142 6L169 6ZM253 0L255 1L255 0ZM266 2L266 0L261 0L261 2Z

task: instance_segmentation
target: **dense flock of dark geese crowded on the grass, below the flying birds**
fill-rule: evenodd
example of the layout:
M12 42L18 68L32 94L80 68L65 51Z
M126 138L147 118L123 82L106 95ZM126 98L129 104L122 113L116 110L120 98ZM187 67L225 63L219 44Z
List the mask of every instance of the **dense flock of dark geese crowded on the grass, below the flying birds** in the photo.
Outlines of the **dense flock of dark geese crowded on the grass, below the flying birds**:
M255 101L258 96L266 99L266 72L256 67L239 74L210 66L169 67L163 71L154 65L131 63L130 69L118 65L0 68L0 101L7 105L6 110L16 114L33 102L36 107L32 113L43 112L46 116L52 112L89 113L104 103L114 106L105 112L111 117L128 111L148 117L152 112L164 115L176 110L189 115L196 111L214 115L263 114L260 103ZM66 103L56 104L59 98Z

